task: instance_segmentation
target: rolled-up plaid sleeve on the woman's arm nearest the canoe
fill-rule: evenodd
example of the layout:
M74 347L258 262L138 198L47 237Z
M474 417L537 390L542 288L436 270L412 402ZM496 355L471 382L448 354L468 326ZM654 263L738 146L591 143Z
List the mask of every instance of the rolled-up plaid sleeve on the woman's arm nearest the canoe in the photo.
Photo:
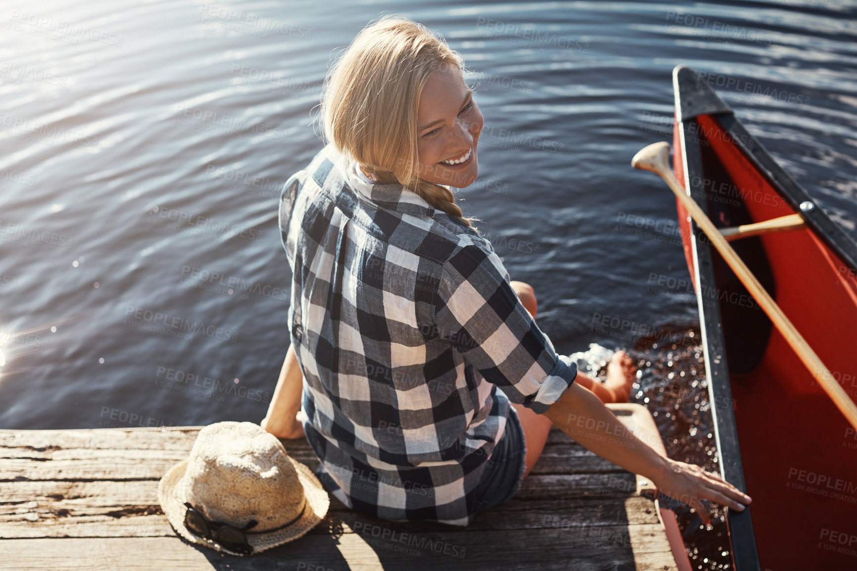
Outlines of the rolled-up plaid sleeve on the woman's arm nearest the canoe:
M434 319L466 363L534 412L547 411L577 376L577 365L556 354L488 248L466 245L444 263Z

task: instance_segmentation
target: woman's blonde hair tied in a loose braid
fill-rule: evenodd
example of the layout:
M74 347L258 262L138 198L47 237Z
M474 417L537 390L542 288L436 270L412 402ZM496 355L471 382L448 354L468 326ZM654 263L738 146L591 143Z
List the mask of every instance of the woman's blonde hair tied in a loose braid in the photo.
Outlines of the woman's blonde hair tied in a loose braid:
M419 99L442 66L461 72L464 59L422 24L385 15L364 27L333 64L320 115L325 140L356 159L377 183L402 184L470 226L452 191L419 177L417 169Z

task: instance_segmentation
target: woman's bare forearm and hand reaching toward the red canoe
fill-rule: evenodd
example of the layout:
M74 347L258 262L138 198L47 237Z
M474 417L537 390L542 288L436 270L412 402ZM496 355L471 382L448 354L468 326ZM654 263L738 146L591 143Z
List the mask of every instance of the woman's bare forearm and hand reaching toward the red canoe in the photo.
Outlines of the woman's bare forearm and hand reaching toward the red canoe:
M701 500L711 500L739 512L744 511L743 504L752 502L750 496L720 476L657 454L577 382L543 414L585 448L628 472L649 478L663 494L696 508L706 524L710 523L710 517Z

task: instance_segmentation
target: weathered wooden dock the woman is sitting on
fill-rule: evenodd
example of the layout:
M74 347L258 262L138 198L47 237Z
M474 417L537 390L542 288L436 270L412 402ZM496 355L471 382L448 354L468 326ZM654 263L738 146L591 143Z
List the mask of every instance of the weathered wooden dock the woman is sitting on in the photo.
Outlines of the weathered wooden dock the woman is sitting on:
M660 442L643 406L611 408L646 442ZM157 499L159 479L200 429L0 430L0 568L690 569L674 514L641 493L651 485L556 429L518 494L465 528L376 520L332 497L327 518L303 538L248 558L221 555L178 538ZM306 441L282 442L317 466Z

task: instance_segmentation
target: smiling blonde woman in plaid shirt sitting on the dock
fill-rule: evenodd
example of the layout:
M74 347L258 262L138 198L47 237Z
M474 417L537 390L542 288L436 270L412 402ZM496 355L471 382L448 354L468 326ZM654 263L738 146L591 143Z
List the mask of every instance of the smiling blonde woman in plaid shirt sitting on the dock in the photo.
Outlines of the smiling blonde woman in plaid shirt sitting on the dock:
M627 400L630 359L617 353L606 385L579 374L533 321L532 288L462 216L449 187L476 180L483 125L463 67L386 16L331 69L327 147L280 203L291 347L262 426L305 433L327 490L387 520L467 525L514 495L553 424L704 520L701 499L743 509L715 474L615 430L603 402Z

